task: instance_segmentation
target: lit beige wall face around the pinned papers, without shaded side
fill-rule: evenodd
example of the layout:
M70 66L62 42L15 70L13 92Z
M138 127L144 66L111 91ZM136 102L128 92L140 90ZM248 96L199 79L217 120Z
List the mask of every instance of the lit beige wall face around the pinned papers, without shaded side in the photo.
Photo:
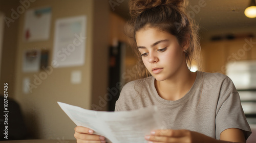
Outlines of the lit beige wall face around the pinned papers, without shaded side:
M23 42L24 15L20 16L18 26L18 51L16 63L15 99L21 104L25 113L25 121L30 133L35 138L73 139L75 124L59 108L57 101L90 109L91 104L91 61L92 61L92 27L93 1L36 1L30 8L50 6L52 8L50 39L40 42ZM23 93L23 79L30 78L33 84L38 73L23 73L22 58L26 49L42 49L50 51L49 63L52 61L54 24L56 19L87 15L86 62L83 66L54 68L52 73L32 93ZM82 72L81 84L71 84L71 71ZM35 83L34 83L35 85Z

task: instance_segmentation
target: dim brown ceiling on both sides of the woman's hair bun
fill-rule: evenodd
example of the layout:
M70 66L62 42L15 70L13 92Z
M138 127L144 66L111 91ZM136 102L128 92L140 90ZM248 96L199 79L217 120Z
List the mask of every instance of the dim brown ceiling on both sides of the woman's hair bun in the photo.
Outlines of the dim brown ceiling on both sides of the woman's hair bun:
M114 7L113 12L125 19L129 19L129 0L122 0ZM248 7L250 0L191 0L187 8L188 12L199 23L204 31L221 29L247 29L254 27L256 31L256 18L247 18L244 10ZM118 2L118 1L117 1ZM120 0L119 0L120 2ZM205 6L199 11L193 11L191 7L199 6L199 2Z

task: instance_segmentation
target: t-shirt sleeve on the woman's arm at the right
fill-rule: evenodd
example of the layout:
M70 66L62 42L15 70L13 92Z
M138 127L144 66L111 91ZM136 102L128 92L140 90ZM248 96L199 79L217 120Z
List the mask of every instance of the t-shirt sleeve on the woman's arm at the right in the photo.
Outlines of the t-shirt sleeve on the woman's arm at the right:
M251 134L251 129L247 123L243 108L241 106L239 93L236 92L236 88L234 87L231 80L228 81L227 84L227 88L224 88L224 91L229 92L234 89L234 92L229 92L229 94L220 92L220 94L223 95L220 96L217 105L216 138L220 139L221 132L226 129L238 128L243 130L245 138L247 139Z

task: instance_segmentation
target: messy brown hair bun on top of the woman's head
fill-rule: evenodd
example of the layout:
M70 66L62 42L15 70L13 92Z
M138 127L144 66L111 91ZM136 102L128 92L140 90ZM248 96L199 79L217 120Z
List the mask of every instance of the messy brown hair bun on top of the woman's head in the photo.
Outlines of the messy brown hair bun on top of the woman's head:
M132 18L139 16L143 11L160 6L184 6L185 0L131 0L130 1L130 15Z

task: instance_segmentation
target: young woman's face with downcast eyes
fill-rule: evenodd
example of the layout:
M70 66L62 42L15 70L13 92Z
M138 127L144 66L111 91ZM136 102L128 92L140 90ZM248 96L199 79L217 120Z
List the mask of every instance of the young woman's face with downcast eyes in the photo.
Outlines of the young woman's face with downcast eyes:
M186 66L184 50L177 38L157 28L145 28L136 32L136 42L142 61L158 81L174 77Z

